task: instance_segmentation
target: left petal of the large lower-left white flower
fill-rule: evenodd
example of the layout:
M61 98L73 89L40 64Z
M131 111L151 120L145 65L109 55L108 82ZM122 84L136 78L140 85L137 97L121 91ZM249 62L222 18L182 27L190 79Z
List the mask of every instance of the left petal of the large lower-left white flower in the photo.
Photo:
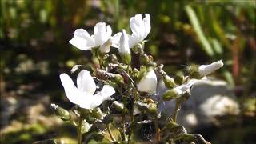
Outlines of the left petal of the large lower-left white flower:
M81 98L83 96L82 91L78 90L76 86L74 86L74 82L67 74L60 74L62 86L64 87L66 97L70 100L70 102L74 104L79 104L81 102Z

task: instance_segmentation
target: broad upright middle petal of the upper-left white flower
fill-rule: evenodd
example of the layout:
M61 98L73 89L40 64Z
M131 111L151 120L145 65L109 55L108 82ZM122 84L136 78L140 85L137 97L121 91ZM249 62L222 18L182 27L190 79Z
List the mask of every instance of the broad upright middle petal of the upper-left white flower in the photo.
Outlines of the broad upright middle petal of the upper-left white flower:
M95 46L100 46L107 41L108 35L106 32L105 22L98 22L94 26L94 39L95 39Z

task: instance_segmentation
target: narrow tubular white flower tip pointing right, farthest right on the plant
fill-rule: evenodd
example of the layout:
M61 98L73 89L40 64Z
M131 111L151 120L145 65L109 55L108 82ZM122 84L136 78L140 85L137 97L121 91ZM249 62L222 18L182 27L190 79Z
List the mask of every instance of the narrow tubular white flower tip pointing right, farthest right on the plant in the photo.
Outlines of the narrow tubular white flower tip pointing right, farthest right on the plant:
M201 66L198 67L198 73L201 76L206 76L208 74L211 74L215 70L218 70L222 66L223 66L222 60L219 60L217 62L213 62L210 65L201 65Z

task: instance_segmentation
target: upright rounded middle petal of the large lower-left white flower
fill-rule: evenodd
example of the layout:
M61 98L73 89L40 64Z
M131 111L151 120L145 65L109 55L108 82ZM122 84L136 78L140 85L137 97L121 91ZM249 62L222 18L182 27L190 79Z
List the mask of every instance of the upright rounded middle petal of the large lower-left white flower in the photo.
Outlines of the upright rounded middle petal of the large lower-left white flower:
M78 85L78 90L81 90L86 94L93 95L96 90L94 78L90 76L90 72L87 70L82 70L78 74L77 85Z

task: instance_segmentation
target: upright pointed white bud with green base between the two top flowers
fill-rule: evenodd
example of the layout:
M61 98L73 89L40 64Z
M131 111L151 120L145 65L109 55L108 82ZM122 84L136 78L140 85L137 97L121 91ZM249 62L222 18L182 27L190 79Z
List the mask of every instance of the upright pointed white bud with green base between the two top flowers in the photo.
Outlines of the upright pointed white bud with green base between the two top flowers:
M122 30L122 35L120 38L120 47L118 49L119 54L122 58L122 62L127 65L130 65L131 56L130 56L130 48L129 48L129 38L126 34L126 30Z

